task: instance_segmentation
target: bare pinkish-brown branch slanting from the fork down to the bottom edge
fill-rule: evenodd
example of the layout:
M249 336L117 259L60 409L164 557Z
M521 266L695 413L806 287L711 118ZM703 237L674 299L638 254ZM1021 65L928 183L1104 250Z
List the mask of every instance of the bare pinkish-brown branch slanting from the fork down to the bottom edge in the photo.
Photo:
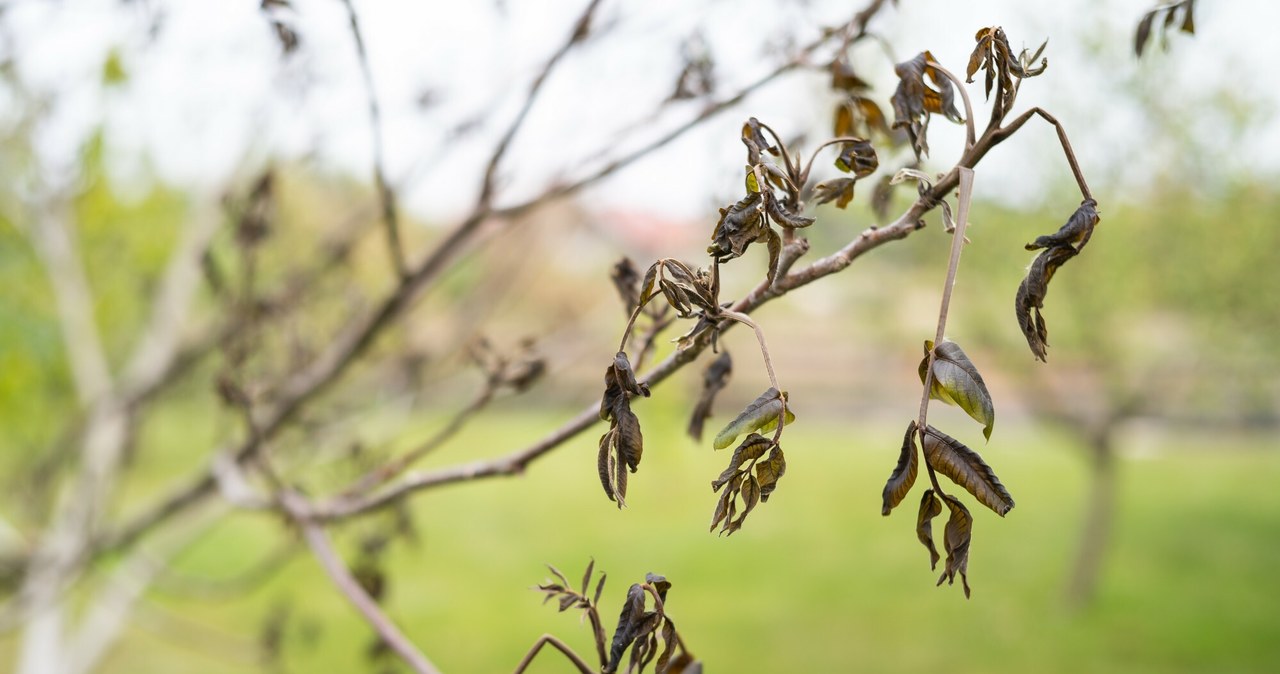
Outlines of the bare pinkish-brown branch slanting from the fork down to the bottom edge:
M396 627L387 615L378 607L378 602L365 592L351 570L343 564L337 550L325 535L324 528L307 515L308 505L302 496L291 491L280 494L280 504L291 513L298 527L302 528L302 537L315 554L333 584L347 597L347 601L365 616L365 620L378 637L383 639L392 651L396 652L413 671L419 674L439 674L439 670L430 660L417 650L412 642Z

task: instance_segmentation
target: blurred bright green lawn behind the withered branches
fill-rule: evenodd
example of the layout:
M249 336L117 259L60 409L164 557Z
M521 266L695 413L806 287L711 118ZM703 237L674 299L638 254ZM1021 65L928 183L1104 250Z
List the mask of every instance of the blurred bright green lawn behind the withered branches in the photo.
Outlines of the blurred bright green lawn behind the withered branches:
M645 572L666 574L673 583L668 610L708 671L1280 670L1274 441L1142 439L1142 451L1120 467L1119 521L1100 596L1069 613L1062 586L1087 482L1084 462L1060 437L997 426L984 448L1018 506L1005 521L973 508L974 595L966 601L959 587L934 587L915 540L914 498L892 517L879 515L901 441L897 425L801 419L787 432L788 468L774 496L741 532L718 538L707 532L714 504L708 482L727 454L695 446L657 405L639 413L646 453L627 510L600 491L595 434L522 478L412 501L421 538L392 549L387 607L444 671L509 671L544 632L590 659L589 627L530 591L548 577L543 563L573 579L590 558L609 574L603 613L611 628L630 583ZM559 419L518 412L489 418L434 460L499 454ZM979 437L975 430L957 435ZM180 559L180 569L234 576L273 549L278 529L266 515L234 514ZM344 551L353 550L353 533L335 532ZM387 669L366 660L371 632L306 554L247 596L150 599L108 671ZM264 665L260 628L282 604L293 606L283 659ZM3 651L13 647L12 637L0 642ZM567 666L545 652L532 670Z

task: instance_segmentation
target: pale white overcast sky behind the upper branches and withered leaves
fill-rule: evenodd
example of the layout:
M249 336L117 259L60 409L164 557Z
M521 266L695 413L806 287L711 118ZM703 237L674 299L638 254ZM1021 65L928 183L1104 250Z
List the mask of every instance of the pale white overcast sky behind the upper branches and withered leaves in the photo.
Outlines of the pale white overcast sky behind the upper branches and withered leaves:
M338 0L293 1L302 47L285 60L278 58L259 0L0 5L8 10L8 35L0 40L10 41L0 43L0 52L17 55L22 77L35 90L58 96L38 137L50 176L65 173L84 136L102 120L114 165L124 174L151 166L168 180L220 189L273 156L310 156L326 169L370 173L364 84ZM470 205L488 148L584 5L356 0L383 106L388 173L404 180L406 207L448 217ZM781 43L806 42L818 27L860 5L605 0L595 40L548 81L508 156L502 194L509 202L589 169L595 152L611 150L626 137L621 129L643 123L672 91L680 42L694 31L701 31L716 59L719 91L730 92L771 69ZM1280 169L1280 125L1274 121L1280 90L1268 67L1280 3L1201 3L1196 37L1178 36L1167 54L1157 50L1138 61L1132 35L1149 6L1151 0L901 0L873 27L899 60L929 49L956 73L963 73L979 27L1004 26L1015 49L1048 38L1048 72L1024 84L1019 102L1056 114L1096 185L1142 185L1152 174L1172 170L1202 171L1196 176L1211 179ZM154 38L152 26L159 26ZM99 79L111 49L123 54L129 81L104 90ZM879 47L859 47L854 65L892 114L892 67ZM742 120L754 115L785 136L808 132L814 138L829 123L824 87L822 74L774 83L586 198L602 208L704 215L741 189ZM416 101L425 91L438 102L422 110ZM984 120L980 84L970 95ZM0 100L0 119L5 105ZM698 106L668 107L641 127L643 136L678 124ZM1152 142L1144 110L1160 111L1161 128L1172 125L1184 136ZM477 114L484 124L476 133L447 139L451 129ZM1236 133L1224 130L1233 115ZM959 127L934 120L931 168L948 165L961 142ZM1047 127L1001 146L983 162L979 196L998 192L1033 202L1047 185L1069 180L1055 153L1056 138Z

